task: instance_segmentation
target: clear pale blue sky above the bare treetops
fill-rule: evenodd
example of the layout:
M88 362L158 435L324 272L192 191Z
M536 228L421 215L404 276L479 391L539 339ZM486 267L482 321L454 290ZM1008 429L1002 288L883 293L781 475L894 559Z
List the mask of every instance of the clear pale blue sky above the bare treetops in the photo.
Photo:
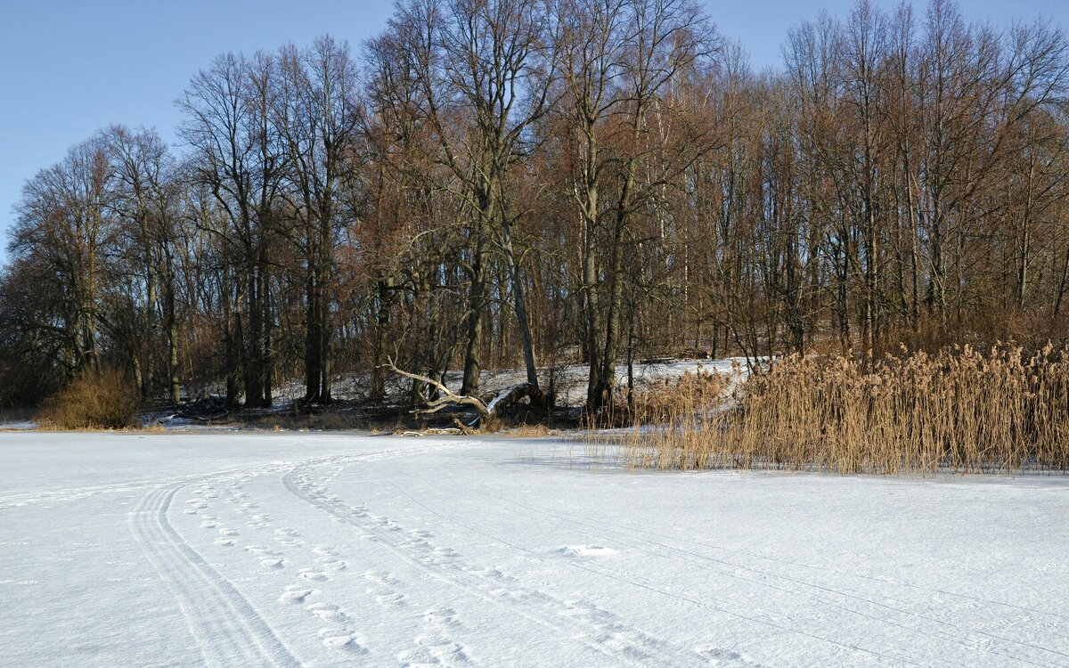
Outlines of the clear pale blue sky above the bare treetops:
M778 64L789 28L821 10L845 18L853 0L706 4L721 32L761 68ZM960 5L970 18L996 25L1044 14L1069 27L1066 0ZM22 183L71 144L111 123L155 127L173 141L173 100L217 53L305 45L327 32L356 47L391 10L391 0L0 0L0 259Z

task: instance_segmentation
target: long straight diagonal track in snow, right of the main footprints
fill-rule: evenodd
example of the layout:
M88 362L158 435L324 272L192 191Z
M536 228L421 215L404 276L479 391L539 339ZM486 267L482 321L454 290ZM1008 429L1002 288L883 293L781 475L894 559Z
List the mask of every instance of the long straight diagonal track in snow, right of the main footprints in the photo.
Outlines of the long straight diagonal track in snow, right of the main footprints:
M352 463L355 457L350 457ZM322 464L322 462L320 463ZM478 569L458 560L452 550L433 547L418 532L404 531L388 517L375 517L358 507L346 506L313 485L309 475L319 464L295 466L282 477L283 486L296 498L350 525L367 540L383 545L402 561L483 602L573 639L614 665L708 666L698 652L672 646L619 623L613 616L583 602L560 601L551 594L521 586L493 568ZM439 555L447 555L441 558ZM721 664L731 665L731 664Z

